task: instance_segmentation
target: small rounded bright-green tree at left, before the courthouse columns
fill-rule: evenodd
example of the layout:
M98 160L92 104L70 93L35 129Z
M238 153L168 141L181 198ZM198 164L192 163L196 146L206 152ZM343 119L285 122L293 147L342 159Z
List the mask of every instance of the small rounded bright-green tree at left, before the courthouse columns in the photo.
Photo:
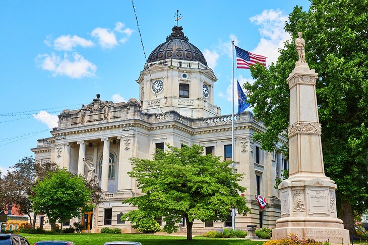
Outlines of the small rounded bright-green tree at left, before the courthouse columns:
M50 173L37 182L33 191L31 200L34 211L46 214L51 224L80 217L81 212L90 208L92 203L93 191L88 188L87 181L66 169Z

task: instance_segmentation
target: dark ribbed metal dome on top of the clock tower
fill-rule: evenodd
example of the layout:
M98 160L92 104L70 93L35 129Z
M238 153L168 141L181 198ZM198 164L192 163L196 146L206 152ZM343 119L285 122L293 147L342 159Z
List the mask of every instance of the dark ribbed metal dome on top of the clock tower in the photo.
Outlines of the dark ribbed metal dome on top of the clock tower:
M207 66L207 61L199 50L192 43L188 42L188 37L184 36L182 27L174 26L172 33L166 38L166 42L160 44L155 48L147 62L155 62L164 59L179 59L188 61L199 61Z

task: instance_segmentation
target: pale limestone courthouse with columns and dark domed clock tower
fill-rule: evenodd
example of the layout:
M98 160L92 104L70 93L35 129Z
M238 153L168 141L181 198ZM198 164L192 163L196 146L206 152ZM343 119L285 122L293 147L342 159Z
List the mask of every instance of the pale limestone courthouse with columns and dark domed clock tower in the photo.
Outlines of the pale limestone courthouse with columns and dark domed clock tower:
M99 182L104 200L82 215L86 231L99 232L103 227L133 231L128 221L120 221L122 214L135 208L121 201L141 193L135 179L127 174L132 170L130 157L152 158L155 149L165 150L167 143L177 147L199 144L205 147L206 154L231 160L231 115L221 115L220 108L214 105L216 80L202 52L189 42L182 27L175 26L139 73L138 99L114 104L97 95L81 109L64 110L58 116L57 128L49 138L39 139L32 151L36 160L55 161L86 177L93 163L95 172L88 177ZM125 86L129 83L126 81ZM245 174L240 185L247 188L239 195L252 209L247 216L236 215L236 227L275 227L280 217L275 178L287 168L287 161L280 151L263 151L260 142L252 140L255 132L265 128L251 112L235 116L234 130L235 169ZM265 209L259 208L255 194L266 198ZM69 222L72 224L66 221L64 225ZM47 228L47 217L39 216L37 225ZM231 226L230 216L226 222L196 220L193 232L227 226ZM181 224L179 230L185 229Z

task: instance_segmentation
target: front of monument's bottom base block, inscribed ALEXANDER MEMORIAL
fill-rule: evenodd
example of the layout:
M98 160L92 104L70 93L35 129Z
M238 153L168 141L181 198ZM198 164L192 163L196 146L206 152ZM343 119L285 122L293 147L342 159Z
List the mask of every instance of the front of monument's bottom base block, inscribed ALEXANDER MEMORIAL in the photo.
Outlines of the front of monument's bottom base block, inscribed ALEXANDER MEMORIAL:
M317 241L341 242L344 235L342 229L305 228L304 238L313 238Z

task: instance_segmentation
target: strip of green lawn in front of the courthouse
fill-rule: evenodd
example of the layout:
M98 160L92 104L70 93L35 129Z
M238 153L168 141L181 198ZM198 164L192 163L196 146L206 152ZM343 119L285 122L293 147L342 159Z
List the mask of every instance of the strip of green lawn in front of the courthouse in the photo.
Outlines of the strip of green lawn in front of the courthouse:
M31 245L40 240L70 240L76 245L103 245L106 241L140 241L142 245L206 245L206 244L242 244L242 245L261 245L262 241L251 241L245 239L231 238L205 238L193 237L192 241L187 241L184 236L168 235L146 235L146 234L20 234L27 238Z

